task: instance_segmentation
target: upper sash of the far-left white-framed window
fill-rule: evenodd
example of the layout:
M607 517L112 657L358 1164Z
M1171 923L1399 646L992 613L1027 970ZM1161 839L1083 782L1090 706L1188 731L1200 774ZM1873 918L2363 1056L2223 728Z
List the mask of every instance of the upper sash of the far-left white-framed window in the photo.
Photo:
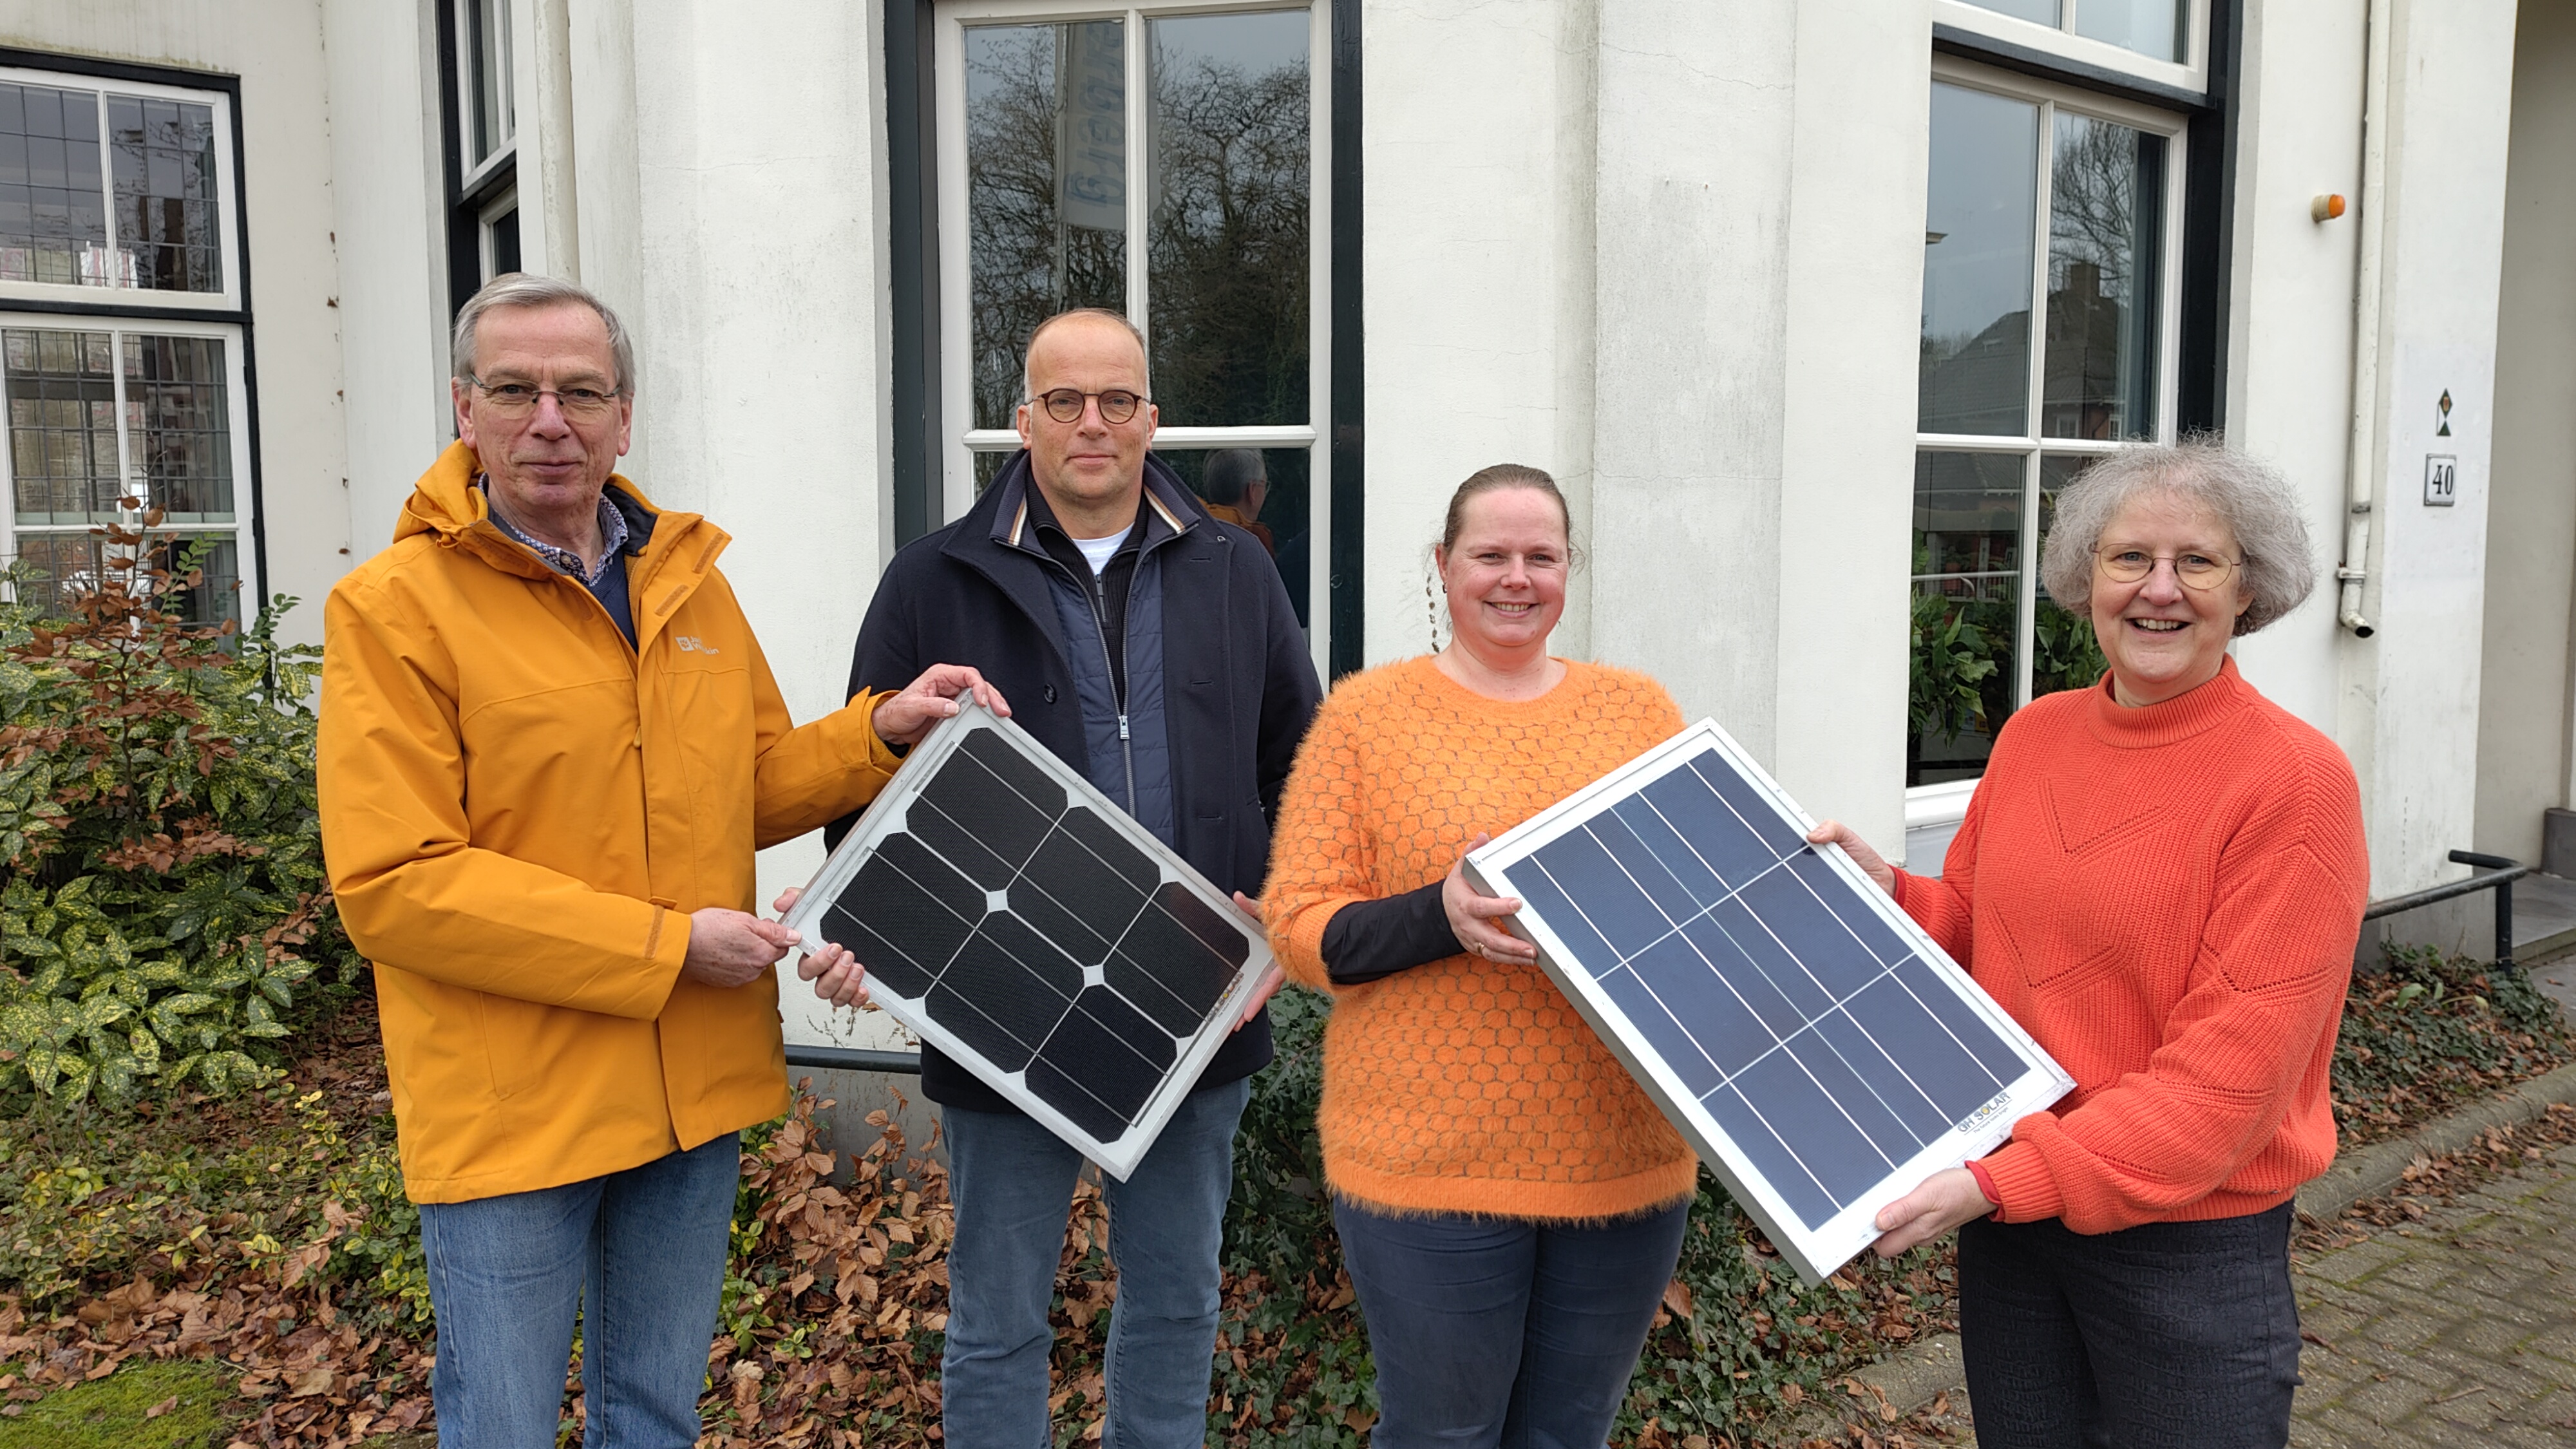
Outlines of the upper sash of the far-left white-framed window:
M0 70L0 294L229 307L229 124L224 95Z

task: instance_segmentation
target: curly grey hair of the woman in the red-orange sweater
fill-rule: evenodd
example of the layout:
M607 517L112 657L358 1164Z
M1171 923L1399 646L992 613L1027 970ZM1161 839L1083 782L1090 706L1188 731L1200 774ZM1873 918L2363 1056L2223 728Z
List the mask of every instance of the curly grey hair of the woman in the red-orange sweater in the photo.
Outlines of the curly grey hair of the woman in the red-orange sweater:
M2040 554L2040 583L2061 606L2089 611L2094 544L2120 508L2146 492L2190 498L2236 536L2236 549L2244 554L2244 590L2254 598L2236 616L2239 634L2251 634L2298 608L2316 588L2308 518L2290 480L2218 438L2184 438L2169 449L2130 443L2058 492L2048 547Z

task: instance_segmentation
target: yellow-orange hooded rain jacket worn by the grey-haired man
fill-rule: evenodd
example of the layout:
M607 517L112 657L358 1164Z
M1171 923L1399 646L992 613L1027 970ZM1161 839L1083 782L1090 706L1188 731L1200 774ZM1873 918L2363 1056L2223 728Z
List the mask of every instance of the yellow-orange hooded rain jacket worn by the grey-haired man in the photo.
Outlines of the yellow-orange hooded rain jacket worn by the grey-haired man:
M778 980L680 980L688 913L755 910L752 851L858 810L896 758L860 696L793 727L716 572L629 539L636 647L489 518L474 454L330 593L322 848L376 964L412 1201L634 1168L788 1106Z

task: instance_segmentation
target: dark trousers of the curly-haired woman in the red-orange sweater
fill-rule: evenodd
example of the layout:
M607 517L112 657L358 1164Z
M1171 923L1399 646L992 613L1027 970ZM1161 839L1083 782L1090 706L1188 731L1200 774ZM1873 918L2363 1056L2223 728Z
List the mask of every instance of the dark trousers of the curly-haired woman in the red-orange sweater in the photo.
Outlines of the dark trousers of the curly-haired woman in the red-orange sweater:
M2280 1449L2298 1387L2290 1204L2213 1222L1958 1230L1986 1449Z

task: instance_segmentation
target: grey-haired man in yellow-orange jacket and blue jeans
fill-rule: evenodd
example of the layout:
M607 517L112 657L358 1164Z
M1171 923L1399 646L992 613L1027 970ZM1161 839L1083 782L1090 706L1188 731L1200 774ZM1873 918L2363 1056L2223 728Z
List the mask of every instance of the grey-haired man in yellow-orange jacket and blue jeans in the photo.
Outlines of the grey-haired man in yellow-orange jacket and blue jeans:
M322 846L376 967L446 1444L698 1441L737 1134L788 1106L752 851L845 815L974 688L793 727L716 554L611 469L634 353L574 284L456 317L459 441L330 593ZM999 706L999 704L997 704Z

